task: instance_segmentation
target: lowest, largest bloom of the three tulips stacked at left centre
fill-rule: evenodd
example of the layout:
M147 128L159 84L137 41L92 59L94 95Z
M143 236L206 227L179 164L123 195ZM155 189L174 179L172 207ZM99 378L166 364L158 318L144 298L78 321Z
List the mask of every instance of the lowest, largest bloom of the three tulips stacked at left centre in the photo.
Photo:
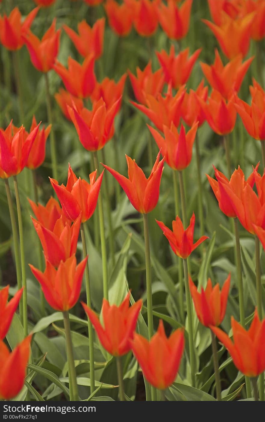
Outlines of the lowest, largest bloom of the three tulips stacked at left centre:
M56 311L69 311L78 301L87 259L76 265L76 257L72 255L66 261L61 261L57 269L46 261L44 273L29 264L47 302Z

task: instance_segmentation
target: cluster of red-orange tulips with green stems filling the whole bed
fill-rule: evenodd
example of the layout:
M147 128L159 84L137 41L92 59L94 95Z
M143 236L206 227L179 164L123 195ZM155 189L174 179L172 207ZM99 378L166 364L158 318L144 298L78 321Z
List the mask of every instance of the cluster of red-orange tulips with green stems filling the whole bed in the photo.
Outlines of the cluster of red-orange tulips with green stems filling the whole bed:
M265 1L264 0L208 0L211 17L214 21L204 20L219 42L220 48L228 62L224 65L218 50L215 51L213 65L201 62L202 72L211 87L204 86L204 81L196 90L187 91L185 84L193 70L201 49L189 57L189 49L175 53L171 45L169 54L156 51L161 68L153 72L152 62L141 70L137 68L137 76L128 71L135 101L133 106L144 113L152 122L147 124L155 143L158 146L150 176L147 178L135 160L126 155L128 177L107 164L103 167L118 181L126 193L132 206L142 214L145 235L145 264L147 292L147 327L145 338L137 333L137 319L140 316L142 300L134 302L131 292L123 302L110 304L109 277L107 262L107 245L105 236L104 214L107 215L111 230L110 207L104 208L101 194L102 181L106 177L99 171L98 151L103 149L115 133L115 116L122 106L123 88L126 74L118 82L104 78L96 79L94 65L103 53L105 19L98 19L93 27L85 20L78 24L78 33L67 25L63 25L66 34L71 38L83 62L68 58L66 68L58 60L61 29L56 30L56 19L41 39L30 30L40 7L48 7L56 0L34 0L37 7L22 19L18 7L9 16L0 16L0 41L3 48L16 51L26 45L32 65L44 73L47 90L47 113L49 125L40 127L35 116L29 132L14 126L11 121L6 129L0 129L0 178L5 183L8 207L11 218L16 276L18 291L8 302L8 286L0 290L0 398L15 397L24 384L29 362L30 341L27 321L27 282L24 256L23 222L19 199L19 187L16 176L27 167L32 170L33 184L36 182L35 171L46 157L46 141L51 139L52 174L51 187L59 200L51 197L45 206L38 202L37 189L34 190L34 201L29 199L35 218L32 223L40 240L39 268L30 265L31 271L40 283L44 298L56 311L63 313L64 331L67 345L68 383L70 400L79 400L78 384L75 371L73 347L70 331L69 310L75 306L80 297L83 276L86 286L86 302L82 302L88 317L89 339L89 373L91 395L96 391L96 374L94 365L94 330L102 347L117 358L117 371L120 400L126 400L123 387L122 356L132 351L142 369L146 385L147 400L164 398L165 390L176 379L185 347L184 327L175 330L169 338L165 334L163 321L160 320L158 330L154 333L151 260L149 246L149 229L147 215L153 211L159 200L161 178L165 163L172 169L172 195L174 192L175 215L172 230L163 222L157 224L166 236L172 251L178 257L179 274L179 315L181 324L185 325L188 341L188 377L190 385L195 387L195 350L194 350L194 318L193 303L199 321L211 330L214 371L216 379L216 398L222 400L216 338L221 341L230 353L234 365L246 377L246 397L264 400L265 371L265 319L262 319L262 283L260 273L260 242L265 248L265 91L253 79L250 87L251 105L239 97L239 90L254 57L243 61L249 51L250 38L261 40L265 36ZM5 2L3 2L5 3ZM85 0L88 5L96 6L101 0ZM121 5L114 0L107 0L104 8L112 30L125 36L132 25L141 36L152 35L160 23L166 35L173 40L180 40L187 35L193 0L169 0L165 5L161 0L125 0ZM48 9L46 9L48 10ZM91 152L94 160L94 171L89 175L89 182L78 178L68 168L66 184L58 182L58 165L56 139L53 130L53 104L49 87L48 73L55 71L64 84L55 94L55 100L64 116L74 124L80 143ZM18 75L17 75L18 76ZM17 77L19 94L19 76ZM87 100L91 108L87 108ZM261 141L262 165L253 163L253 171L248 178L240 166L232 173L228 134L234 130L237 114L252 138ZM23 123L23 103L20 108L21 124ZM190 255L202 242L208 239L204 235L203 224L203 192L200 169L200 151L197 129L207 122L214 133L224 138L227 160L227 176L214 168L214 176L207 175L209 184L225 216L233 219L233 230L236 239L237 287L239 296L240 323L232 317L230 334L219 328L222 323L230 290L230 274L223 283L212 285L208 279L206 288L196 287L190 272ZM193 146L197 155L198 167L198 210L201 237L194 243L195 215L192 214L188 225L185 184L183 170L192 160ZM160 156L162 156L160 160ZM106 160L107 162L107 160ZM238 164L238 163L237 163ZM258 172L262 168L261 174ZM97 173L100 173L97 177ZM106 172L105 172L106 173ZM17 219L13 209L13 200L9 180L13 177L16 195ZM180 194L180 200L179 200ZM60 205L59 205L60 203ZM107 201L106 201L107 203ZM89 258L86 245L85 223L93 217L98 209L99 230L102 252L103 304L101 316L93 310L91 285L89 276ZM179 217L181 215L181 218ZM248 330L244 311L244 289L242 281L240 238L238 220L255 238L256 276L257 276L257 308ZM17 222L19 235L17 234ZM81 236L83 260L78 263L76 257L78 238ZM113 234L110 236L110 255L114 257ZM200 246L201 248L201 246ZM45 258L45 269L42 268L42 257ZM184 276L182 275L184 271ZM43 301L43 295L41 300ZM21 302L19 302L21 299ZM192 302L193 300L193 302ZM132 305L130 306L130 302ZM24 340L9 351L3 341L10 327L13 314L19 306L19 317L24 328ZM34 337L33 337L34 338ZM259 376L259 392L257 390ZM253 381L253 394L250 380ZM160 390L158 394L157 390Z

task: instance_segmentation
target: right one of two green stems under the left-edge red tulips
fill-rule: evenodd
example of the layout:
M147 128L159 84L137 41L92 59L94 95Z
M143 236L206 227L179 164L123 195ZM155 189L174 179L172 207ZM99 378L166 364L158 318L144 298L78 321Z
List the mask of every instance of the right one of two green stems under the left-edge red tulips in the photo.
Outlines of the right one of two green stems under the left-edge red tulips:
M16 180L16 176L13 176L14 188L16 195L16 209L19 222L19 243L20 243L20 263L21 263L21 274L22 274L22 303L23 303L23 327L24 327L24 337L28 335L28 319L27 319L27 281L26 281L26 267L25 267L25 253L24 253L24 235L23 235L23 223L22 223L22 214L21 214L21 205L19 198L19 188Z

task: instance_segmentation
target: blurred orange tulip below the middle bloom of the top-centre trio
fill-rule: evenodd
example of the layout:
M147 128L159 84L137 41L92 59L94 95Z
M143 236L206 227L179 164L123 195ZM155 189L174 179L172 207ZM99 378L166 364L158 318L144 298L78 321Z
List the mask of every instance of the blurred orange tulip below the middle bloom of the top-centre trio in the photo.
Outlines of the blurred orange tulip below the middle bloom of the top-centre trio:
M152 63L149 61L144 70L140 70L137 67L136 74L137 76L134 76L130 70L128 70L135 98L139 103L146 104L147 94L156 98L158 94L162 92L165 82L163 70L158 69L152 73Z

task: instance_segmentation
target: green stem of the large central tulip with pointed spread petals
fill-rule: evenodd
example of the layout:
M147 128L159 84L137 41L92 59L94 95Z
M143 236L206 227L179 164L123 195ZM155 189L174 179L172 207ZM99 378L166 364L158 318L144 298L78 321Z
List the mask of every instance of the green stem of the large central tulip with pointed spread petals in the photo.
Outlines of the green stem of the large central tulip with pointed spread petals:
M148 230L148 216L143 214L145 234L145 269L146 269L146 296L147 296L147 325L149 340L154 334L153 325L153 300L152 300L152 278L151 278L151 256ZM156 390L151 386L152 401L157 400Z

